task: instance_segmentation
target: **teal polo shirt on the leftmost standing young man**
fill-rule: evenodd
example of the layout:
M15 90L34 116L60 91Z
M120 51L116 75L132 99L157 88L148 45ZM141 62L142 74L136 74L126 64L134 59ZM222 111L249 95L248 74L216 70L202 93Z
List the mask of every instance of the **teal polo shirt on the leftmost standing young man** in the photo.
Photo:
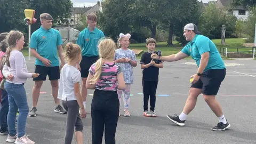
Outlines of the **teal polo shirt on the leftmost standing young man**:
M51 61L51 67L59 66L57 46L62 44L61 35L56 29L37 29L30 39L30 49L35 49L41 57ZM43 62L36 59L35 65L44 66Z

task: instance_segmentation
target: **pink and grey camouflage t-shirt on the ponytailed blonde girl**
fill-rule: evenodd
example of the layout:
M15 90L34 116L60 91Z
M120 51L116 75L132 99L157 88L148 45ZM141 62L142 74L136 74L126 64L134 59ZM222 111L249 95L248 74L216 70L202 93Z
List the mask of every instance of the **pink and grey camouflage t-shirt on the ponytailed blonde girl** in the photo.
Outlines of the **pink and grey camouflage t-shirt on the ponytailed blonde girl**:
M98 82L95 84L95 89L103 91L117 90L117 75L122 72L120 66L115 62L105 62L102 65L102 71ZM89 69L89 73L94 75L95 63Z

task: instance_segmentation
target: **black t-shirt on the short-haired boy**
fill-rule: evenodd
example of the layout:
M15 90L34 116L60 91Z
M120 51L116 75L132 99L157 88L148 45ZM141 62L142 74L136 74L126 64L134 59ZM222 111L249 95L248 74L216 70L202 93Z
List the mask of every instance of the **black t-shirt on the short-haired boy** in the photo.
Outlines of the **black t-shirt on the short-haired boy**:
M157 52L154 52L154 53L157 54ZM161 56L161 54L159 56ZM141 56L140 63L147 65L148 63L150 63L151 60L152 60L151 53L145 52ZM161 60L154 60L154 61L157 64L163 62ZM148 68L143 69L142 74L143 74L142 76L143 81L158 81L159 68L155 66L150 66Z

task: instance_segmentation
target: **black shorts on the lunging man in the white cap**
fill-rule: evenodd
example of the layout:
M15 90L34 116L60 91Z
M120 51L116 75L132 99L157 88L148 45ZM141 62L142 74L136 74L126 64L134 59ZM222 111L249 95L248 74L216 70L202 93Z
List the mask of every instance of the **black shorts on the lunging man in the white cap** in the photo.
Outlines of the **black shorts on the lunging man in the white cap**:
M202 89L205 95L217 95L220 84L226 76L226 69L210 69L205 71L191 87Z

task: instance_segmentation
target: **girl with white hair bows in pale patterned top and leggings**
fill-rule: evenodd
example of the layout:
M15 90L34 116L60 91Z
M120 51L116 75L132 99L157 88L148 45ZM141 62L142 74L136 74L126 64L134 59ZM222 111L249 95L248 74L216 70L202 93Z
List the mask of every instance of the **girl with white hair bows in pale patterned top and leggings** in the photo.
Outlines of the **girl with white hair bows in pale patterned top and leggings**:
M122 93L124 95L124 116L130 116L130 88L133 84L132 68L137 66L135 53L128 49L130 34L120 34L118 39L118 47L115 51L115 61L121 66L124 74L125 89L117 90L119 102L121 105ZM120 110L119 110L120 116Z

